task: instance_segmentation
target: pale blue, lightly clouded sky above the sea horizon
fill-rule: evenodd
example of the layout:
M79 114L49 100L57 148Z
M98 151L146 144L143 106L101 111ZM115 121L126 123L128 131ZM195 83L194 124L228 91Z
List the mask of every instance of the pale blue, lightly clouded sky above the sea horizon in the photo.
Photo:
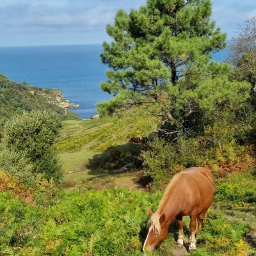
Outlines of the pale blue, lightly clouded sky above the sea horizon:
M101 44L119 9L146 0L0 0L0 46ZM228 34L256 15L256 0L212 0L212 19Z

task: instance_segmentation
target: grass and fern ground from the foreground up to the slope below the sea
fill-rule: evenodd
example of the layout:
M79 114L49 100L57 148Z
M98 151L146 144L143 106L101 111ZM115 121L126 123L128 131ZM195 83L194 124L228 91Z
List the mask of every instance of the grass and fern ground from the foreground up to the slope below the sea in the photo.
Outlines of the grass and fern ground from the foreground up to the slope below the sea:
M57 143L65 170L61 188L39 179L39 191L27 191L0 172L0 181L8 184L0 186L0 252L4 256L255 255L256 182L250 170L225 177L214 172L214 204L198 234L195 252L186 250L188 216L184 217L184 247L175 244L174 221L158 250L141 252L147 236L147 209L157 209L162 192L137 189L143 170L138 175L136 163L127 172L116 170L131 163L131 154L136 156L143 147L129 143L129 138L148 136L157 122L145 107L97 120L63 121Z

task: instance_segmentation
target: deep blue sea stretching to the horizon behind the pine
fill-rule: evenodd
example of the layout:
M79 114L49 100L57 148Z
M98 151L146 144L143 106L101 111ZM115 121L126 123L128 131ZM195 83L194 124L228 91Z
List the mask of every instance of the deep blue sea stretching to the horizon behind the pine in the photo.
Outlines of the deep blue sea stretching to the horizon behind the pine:
M100 61L101 52L100 44L0 47L0 73L19 83L61 90L66 99L80 106L70 110L86 119L97 114L97 102L111 99L100 89L108 69ZM224 50L212 59L226 57Z

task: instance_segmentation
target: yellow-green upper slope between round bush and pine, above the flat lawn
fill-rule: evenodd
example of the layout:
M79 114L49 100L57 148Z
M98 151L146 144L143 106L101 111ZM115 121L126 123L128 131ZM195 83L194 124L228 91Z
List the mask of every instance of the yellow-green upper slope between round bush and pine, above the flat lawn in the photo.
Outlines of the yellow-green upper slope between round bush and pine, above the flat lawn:
M58 150L76 151L87 145L90 150L102 152L127 143L131 137L147 136L156 129L157 118L144 108L132 108L112 118L63 122Z

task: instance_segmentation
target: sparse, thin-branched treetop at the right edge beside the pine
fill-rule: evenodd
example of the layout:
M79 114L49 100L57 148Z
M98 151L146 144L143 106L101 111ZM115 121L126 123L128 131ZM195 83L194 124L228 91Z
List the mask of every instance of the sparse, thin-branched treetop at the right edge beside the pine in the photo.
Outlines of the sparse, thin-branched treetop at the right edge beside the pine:
M251 83L256 92L256 16L246 20L239 35L232 38L228 61L235 67L234 77Z

